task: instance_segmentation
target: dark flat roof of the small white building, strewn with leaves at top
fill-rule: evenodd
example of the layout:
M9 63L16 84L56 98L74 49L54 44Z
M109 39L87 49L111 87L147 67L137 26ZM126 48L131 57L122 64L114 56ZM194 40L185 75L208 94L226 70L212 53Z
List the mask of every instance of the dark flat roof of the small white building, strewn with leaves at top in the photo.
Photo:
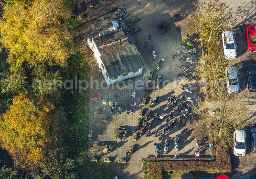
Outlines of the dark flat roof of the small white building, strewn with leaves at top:
M106 43L126 38L122 29L93 38L100 57L110 78L118 77L144 67L144 63L134 46L128 40L99 49ZM105 42L105 43L104 43Z

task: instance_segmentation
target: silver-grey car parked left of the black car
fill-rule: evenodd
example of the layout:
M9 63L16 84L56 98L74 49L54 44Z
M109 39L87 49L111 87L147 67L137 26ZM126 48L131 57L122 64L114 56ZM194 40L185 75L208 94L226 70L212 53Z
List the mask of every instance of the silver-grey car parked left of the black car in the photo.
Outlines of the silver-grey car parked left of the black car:
M227 67L225 70L227 90L230 94L236 94L240 91L237 68L234 66Z

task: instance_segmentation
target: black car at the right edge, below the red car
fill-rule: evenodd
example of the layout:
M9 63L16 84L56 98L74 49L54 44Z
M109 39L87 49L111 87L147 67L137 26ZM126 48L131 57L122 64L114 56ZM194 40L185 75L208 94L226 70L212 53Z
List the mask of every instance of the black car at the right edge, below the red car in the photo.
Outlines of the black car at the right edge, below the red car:
M246 65L247 87L251 92L256 92L256 64L249 63Z

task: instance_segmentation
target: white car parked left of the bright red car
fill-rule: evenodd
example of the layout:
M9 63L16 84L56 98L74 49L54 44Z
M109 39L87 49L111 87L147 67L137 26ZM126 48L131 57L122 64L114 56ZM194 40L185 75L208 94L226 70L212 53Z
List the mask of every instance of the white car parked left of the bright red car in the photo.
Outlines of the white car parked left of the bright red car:
M237 57L237 45L234 32L232 30L222 32L222 41L226 59L235 59Z

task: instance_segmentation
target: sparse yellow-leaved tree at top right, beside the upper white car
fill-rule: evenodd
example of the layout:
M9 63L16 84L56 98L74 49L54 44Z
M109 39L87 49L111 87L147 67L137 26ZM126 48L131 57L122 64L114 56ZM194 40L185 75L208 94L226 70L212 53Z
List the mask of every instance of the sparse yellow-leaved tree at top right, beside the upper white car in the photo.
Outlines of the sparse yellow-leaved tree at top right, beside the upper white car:
M210 46L219 44L222 32L234 27L231 8L219 0L210 0L196 7L191 19L194 22L194 27L191 27L198 33L198 40L203 40Z

